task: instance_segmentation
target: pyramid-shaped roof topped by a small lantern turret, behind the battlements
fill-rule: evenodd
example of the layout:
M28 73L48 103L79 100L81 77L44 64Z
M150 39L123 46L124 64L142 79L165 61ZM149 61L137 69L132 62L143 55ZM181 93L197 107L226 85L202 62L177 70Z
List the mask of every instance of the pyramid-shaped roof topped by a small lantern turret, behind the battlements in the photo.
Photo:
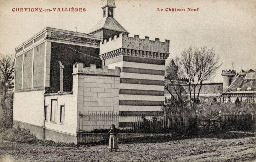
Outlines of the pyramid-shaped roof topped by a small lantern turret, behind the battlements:
M103 18L92 28L90 34L108 39L120 33L129 33L114 18L114 9L116 8L114 0L104 0L102 7Z

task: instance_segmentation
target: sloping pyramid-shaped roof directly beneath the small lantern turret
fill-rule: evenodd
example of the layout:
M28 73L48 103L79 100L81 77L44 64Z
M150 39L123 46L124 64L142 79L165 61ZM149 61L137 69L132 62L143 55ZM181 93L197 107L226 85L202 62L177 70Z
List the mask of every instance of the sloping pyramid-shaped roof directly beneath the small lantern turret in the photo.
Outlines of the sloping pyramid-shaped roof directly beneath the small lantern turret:
M124 29L124 27L122 27L122 25L120 25L116 21L116 19L111 17L104 17L103 19L101 19L89 33L95 32L100 29L109 29L113 31L129 33L127 32L127 30Z

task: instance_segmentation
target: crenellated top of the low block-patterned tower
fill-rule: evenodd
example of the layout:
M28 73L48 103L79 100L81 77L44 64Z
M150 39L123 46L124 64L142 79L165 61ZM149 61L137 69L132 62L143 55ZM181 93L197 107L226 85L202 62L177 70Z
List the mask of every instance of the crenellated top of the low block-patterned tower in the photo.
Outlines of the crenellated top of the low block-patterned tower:
M103 66L103 69L96 68L96 65L91 64L91 67L84 67L84 64L78 63L73 65L73 73L84 74L84 75L104 75L104 76L115 76L120 77L120 67L115 67L115 70L108 69L108 66Z

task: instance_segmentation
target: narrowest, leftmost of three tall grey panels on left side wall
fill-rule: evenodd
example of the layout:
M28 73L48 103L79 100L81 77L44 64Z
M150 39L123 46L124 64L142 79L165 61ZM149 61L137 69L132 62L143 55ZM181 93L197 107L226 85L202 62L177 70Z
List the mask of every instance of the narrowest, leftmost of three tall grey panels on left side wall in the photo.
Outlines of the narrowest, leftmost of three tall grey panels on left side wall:
M16 57L16 67L15 67L15 90L21 89L22 81L22 55Z

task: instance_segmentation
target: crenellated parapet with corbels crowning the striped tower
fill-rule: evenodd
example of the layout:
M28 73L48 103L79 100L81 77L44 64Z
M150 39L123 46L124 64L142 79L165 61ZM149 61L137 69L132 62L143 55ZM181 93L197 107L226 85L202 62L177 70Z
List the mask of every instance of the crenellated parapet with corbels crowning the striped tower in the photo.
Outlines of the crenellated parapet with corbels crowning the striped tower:
M149 40L149 37L140 39L138 35L128 37L127 34L121 33L100 43L100 58L102 60L120 55L167 59L169 40L160 42L158 38L155 38L155 41L152 41Z

